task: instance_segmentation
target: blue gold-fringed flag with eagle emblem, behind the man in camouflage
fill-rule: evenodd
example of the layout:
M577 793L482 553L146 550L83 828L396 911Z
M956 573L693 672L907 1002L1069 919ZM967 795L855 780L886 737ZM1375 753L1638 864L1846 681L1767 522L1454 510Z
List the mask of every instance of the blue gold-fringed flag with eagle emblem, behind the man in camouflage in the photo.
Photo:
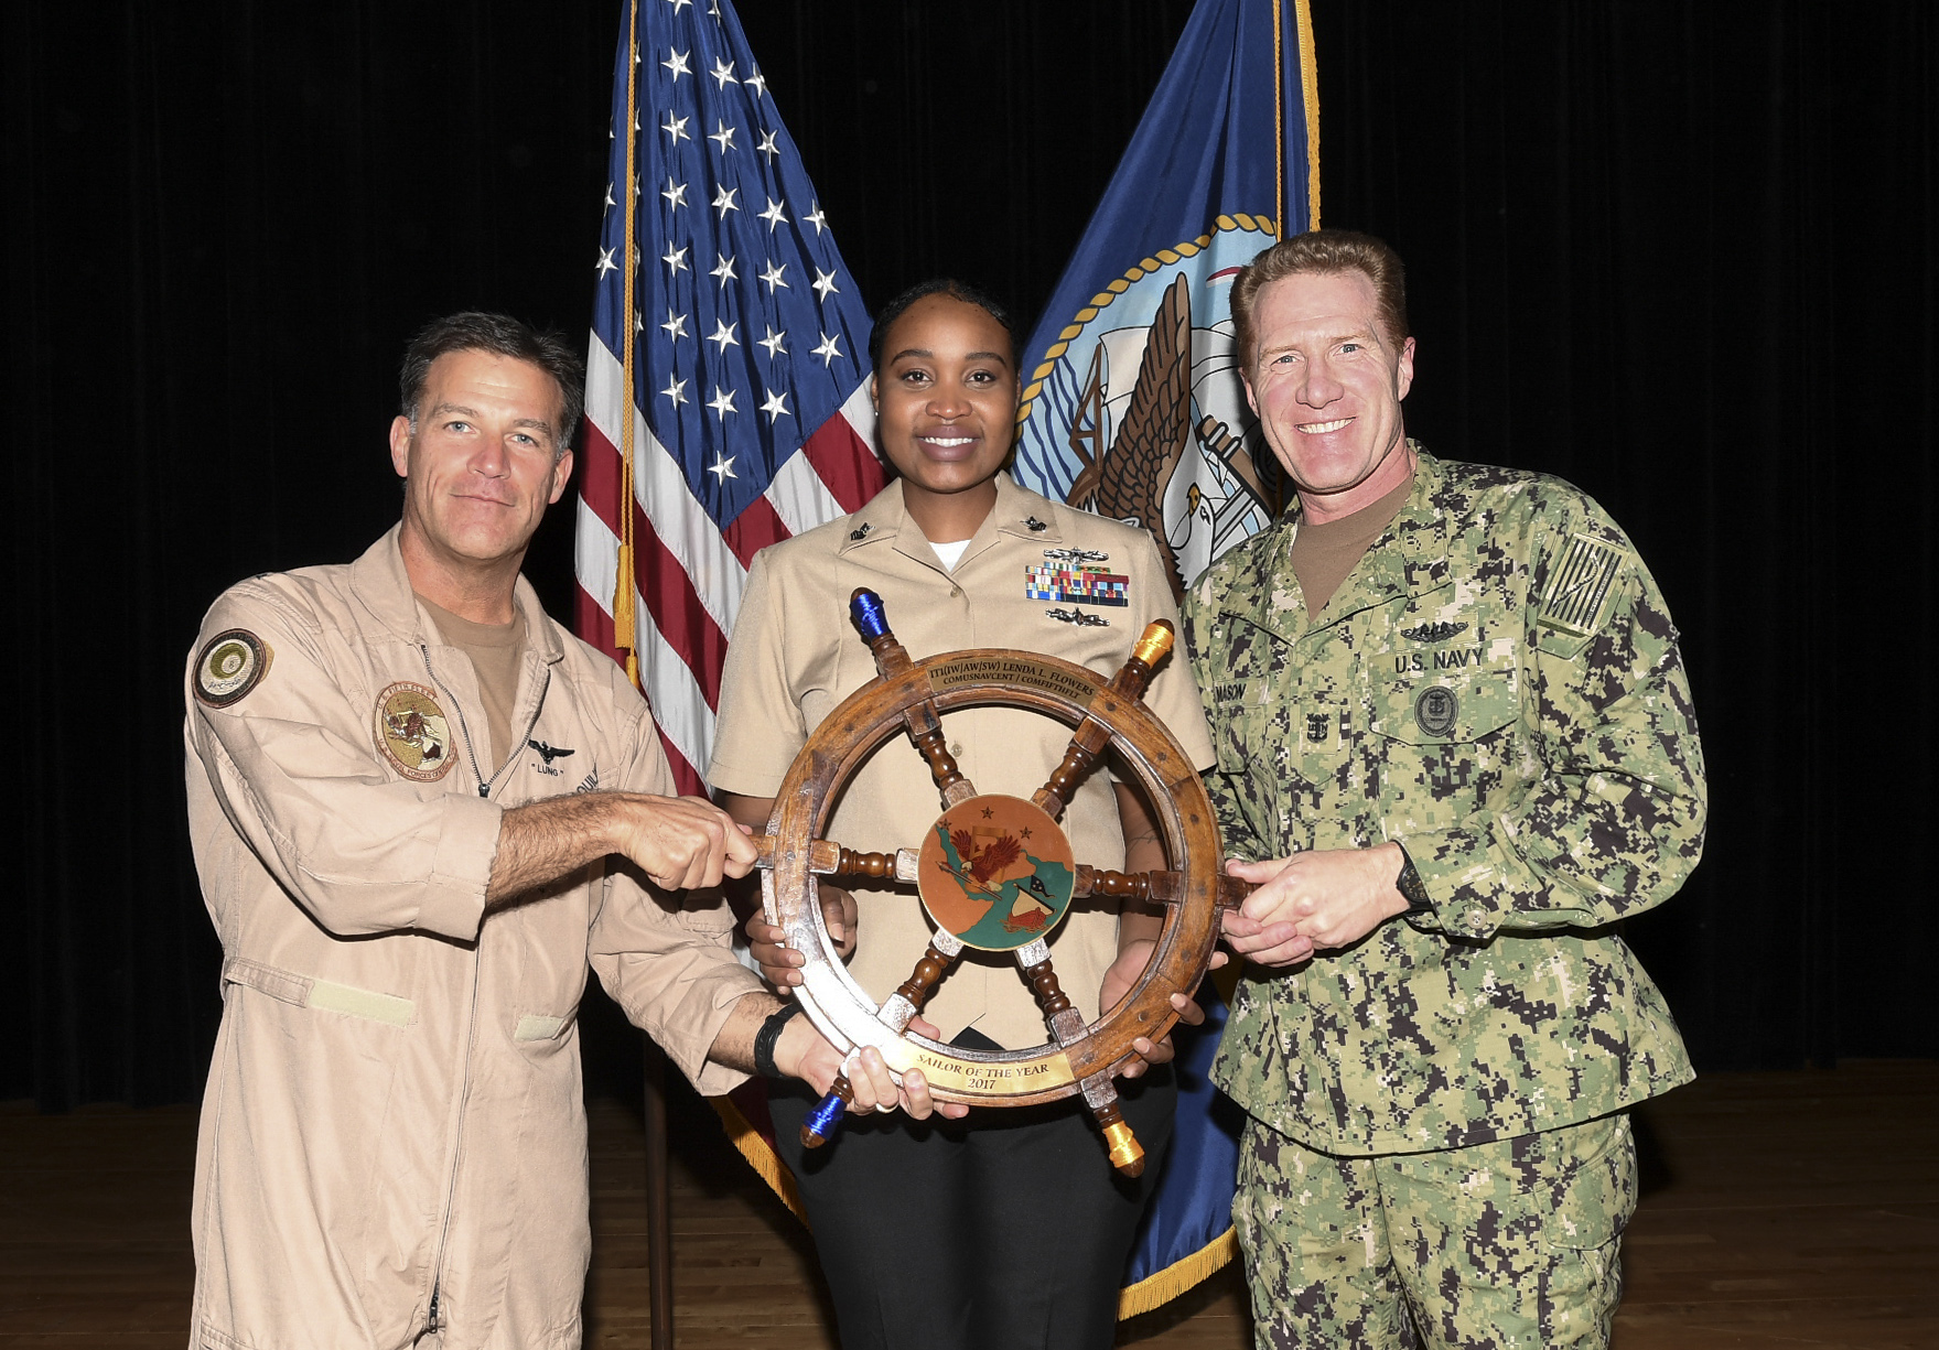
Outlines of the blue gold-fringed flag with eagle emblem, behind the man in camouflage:
M1024 349L1026 487L1144 526L1183 595L1278 510L1245 402L1229 283L1319 225L1319 93L1305 0L1200 0ZM1255 460L1255 450L1260 452ZM1233 1259L1239 1109L1210 1082L1225 1007L1175 1032L1179 1115L1119 1317Z

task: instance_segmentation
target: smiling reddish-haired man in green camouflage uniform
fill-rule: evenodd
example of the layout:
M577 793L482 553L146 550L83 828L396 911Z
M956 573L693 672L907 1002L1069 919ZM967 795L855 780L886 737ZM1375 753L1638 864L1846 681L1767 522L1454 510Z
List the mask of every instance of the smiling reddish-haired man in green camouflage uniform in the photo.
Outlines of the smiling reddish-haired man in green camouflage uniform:
M1258 1344L1607 1344L1625 1108L1691 1077L1613 931L1702 848L1675 628L1586 495L1406 438L1384 244L1276 244L1233 318L1299 493L1183 615L1262 883L1216 1067Z

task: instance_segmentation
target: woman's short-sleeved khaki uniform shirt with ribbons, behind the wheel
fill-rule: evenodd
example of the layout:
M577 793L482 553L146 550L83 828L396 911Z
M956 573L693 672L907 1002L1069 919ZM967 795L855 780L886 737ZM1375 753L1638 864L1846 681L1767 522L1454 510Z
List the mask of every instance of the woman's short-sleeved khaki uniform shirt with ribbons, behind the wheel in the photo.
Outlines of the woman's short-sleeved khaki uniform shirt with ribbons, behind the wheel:
M1028 568L1043 566L1059 549L1103 555L1092 566L1127 578L1128 603L1030 599ZM915 659L960 648L1022 648L1109 677L1146 623L1177 615L1158 549L1140 530L1051 502L999 475L995 508L954 570L944 570L904 512L902 483L892 483L853 516L754 557L721 675L719 733L708 768L715 788L772 797L809 733L874 679L874 658L847 613L857 586L882 597L896 638ZM1105 623L1065 623L1051 609ZM1146 702L1191 762L1204 766L1212 745L1181 656L1160 665ZM1030 797L1070 743L1070 727L1016 708L964 708L944 716L942 727L964 776L983 793ZM855 774L826 836L857 850L919 848L940 813L929 764L902 735ZM1103 772L1084 782L1063 826L1080 863L1123 865L1117 797ZM855 888L861 921L849 974L880 1003L909 978L931 925L913 888L863 886ZM1088 902L1072 906L1051 935L1059 981L1086 1020L1097 1016L1097 987L1115 954L1117 914ZM1008 952L966 950L923 1016L942 1028L944 1040L973 1026L1006 1049L1041 1045L1049 1036Z

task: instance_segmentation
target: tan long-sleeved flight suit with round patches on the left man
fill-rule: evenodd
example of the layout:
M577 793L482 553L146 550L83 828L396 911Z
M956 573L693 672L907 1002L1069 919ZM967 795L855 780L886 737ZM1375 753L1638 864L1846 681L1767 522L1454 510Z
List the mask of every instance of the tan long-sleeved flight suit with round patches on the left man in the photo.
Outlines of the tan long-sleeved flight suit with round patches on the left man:
M411 595L397 531L258 576L190 658L188 824L223 943L196 1148L194 1344L580 1344L586 968L700 1086L760 989L725 908L617 865L483 917L506 807L671 793L646 704L518 584L512 747ZM479 737L479 739L473 739ZM481 766L502 762L493 774Z

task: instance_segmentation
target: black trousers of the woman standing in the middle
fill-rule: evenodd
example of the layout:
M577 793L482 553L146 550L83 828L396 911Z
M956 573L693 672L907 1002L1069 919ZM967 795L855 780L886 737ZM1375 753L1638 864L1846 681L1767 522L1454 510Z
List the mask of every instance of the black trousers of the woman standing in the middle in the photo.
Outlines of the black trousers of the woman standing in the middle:
M809 1088L770 1082L842 1350L1107 1350L1177 1104L1169 1065L1117 1088L1146 1154L1136 1181L1111 1168L1082 1098L962 1121L845 1115L811 1152Z

